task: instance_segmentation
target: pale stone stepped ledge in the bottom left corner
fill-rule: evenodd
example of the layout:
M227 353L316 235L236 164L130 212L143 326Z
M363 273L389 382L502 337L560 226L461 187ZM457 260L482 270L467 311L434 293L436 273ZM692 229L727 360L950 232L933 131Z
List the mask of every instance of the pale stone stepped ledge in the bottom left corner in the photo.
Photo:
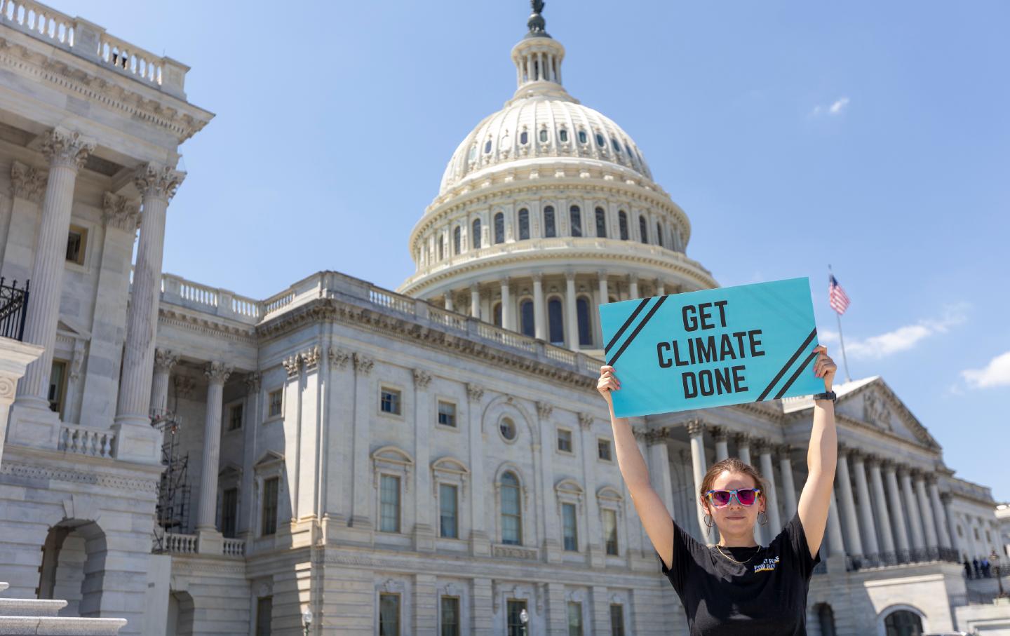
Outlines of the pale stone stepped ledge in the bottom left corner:
M0 593L7 584L0 582ZM57 616L66 601L0 598L0 634L33 636L116 636L126 619Z

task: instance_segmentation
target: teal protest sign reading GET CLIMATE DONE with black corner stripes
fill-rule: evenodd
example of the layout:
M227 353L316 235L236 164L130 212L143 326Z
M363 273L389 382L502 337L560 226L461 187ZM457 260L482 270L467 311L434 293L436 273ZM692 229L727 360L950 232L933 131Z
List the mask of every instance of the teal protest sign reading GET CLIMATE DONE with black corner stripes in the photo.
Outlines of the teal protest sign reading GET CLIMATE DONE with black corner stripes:
M617 417L824 391L805 278L608 303L600 324Z

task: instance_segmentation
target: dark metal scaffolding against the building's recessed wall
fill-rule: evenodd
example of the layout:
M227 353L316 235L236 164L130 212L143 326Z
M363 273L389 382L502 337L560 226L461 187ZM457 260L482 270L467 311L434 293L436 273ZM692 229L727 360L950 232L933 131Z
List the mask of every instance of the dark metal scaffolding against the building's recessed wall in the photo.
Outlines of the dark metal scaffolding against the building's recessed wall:
M190 487L189 453L181 454L179 431L182 419L168 410L152 413L150 425L162 432L162 464L165 470L158 483L155 509L154 550L165 552L167 534L185 534L189 530Z

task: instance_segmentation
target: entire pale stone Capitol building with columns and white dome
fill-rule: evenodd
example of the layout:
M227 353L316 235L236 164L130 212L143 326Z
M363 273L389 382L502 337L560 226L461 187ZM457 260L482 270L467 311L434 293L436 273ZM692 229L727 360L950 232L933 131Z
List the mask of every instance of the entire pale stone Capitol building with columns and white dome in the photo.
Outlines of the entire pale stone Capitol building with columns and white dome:
M638 145L568 93L533 5L515 93L452 153L400 288L319 272L254 299L162 271L178 147L213 117L189 68L0 2L0 633L686 632L595 389L596 307L718 284ZM963 564L1002 552L990 490L882 378L836 392L809 632L1005 628ZM705 466L758 465L768 542L811 418L632 421L700 539Z

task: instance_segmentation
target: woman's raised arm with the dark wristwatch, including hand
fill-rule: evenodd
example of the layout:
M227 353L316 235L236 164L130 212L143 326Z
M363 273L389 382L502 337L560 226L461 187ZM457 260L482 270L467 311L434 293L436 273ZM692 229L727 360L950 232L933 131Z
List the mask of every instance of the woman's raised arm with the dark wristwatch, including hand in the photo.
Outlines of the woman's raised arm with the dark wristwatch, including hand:
M827 347L818 346L814 374L824 379L824 391L831 391L831 381L837 368L827 355ZM807 448L807 483L800 494L799 515L807 537L810 555L820 549L827 527L827 512L834 487L834 469L838 462L838 435L834 427L834 403L814 401L814 424Z

